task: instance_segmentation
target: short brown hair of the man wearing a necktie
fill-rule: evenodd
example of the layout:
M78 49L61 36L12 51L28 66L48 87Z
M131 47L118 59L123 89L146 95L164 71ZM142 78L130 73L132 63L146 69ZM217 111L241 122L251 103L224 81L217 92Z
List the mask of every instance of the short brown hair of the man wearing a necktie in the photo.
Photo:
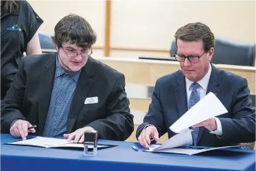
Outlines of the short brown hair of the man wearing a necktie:
M185 26L182 26L176 31L174 37L177 49L178 39L183 41L198 41L202 39L202 42L204 44L204 50L206 52L208 52L211 47L214 47L215 45L215 39L212 31L207 25L200 22L189 23Z

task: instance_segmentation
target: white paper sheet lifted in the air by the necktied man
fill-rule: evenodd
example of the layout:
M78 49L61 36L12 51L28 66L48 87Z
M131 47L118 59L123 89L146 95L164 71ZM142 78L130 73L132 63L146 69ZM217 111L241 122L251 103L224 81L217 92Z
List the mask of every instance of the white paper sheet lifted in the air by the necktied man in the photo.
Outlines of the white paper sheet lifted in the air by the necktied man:
M216 95L209 92L169 128L171 131L179 133L195 124L227 112Z

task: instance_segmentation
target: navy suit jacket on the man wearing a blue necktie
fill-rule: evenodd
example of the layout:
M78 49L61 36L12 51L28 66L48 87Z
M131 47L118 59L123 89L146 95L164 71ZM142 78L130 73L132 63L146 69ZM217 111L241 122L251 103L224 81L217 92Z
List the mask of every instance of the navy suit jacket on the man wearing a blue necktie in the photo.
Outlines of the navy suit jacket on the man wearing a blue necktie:
M222 126L220 139L205 127L200 127L198 146L220 147L255 141L255 110L251 107L247 80L212 65L207 87L209 92L216 94L228 113L218 116ZM168 132L171 138L175 133L169 127L187 110L186 81L182 71L159 78L148 114L137 129L136 137L146 125L154 125L159 136Z

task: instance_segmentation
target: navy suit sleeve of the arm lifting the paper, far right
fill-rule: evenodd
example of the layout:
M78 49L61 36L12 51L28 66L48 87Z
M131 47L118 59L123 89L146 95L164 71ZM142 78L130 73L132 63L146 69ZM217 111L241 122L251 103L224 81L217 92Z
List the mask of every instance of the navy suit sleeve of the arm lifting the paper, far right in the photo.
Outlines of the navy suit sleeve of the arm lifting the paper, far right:
M255 141L255 108L251 107L247 80L236 84L232 100L232 118L219 118L222 126L221 140L230 142Z

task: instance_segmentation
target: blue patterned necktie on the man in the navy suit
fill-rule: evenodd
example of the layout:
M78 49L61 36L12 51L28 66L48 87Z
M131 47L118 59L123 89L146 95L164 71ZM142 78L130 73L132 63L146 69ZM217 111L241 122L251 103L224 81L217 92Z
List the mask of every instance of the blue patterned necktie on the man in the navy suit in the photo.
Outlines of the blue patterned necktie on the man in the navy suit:
M199 94L196 91L196 89L200 85L198 83L194 82L191 86L192 86L192 93L191 93L191 95L189 97L188 108L191 108L192 106L194 106L200 100ZM192 131L192 138L193 138L194 146L196 146L196 140L198 139L199 127L196 127L196 128L192 127L192 129L193 129L193 131Z

